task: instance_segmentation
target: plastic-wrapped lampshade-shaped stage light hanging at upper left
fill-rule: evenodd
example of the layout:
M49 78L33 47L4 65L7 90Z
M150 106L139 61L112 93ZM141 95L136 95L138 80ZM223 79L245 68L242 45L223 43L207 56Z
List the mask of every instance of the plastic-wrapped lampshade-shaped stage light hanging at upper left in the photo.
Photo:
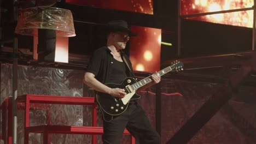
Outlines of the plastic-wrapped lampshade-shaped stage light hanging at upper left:
M33 7L19 11L15 33L34 37L33 58L38 62L68 63L68 38L74 37L70 10Z

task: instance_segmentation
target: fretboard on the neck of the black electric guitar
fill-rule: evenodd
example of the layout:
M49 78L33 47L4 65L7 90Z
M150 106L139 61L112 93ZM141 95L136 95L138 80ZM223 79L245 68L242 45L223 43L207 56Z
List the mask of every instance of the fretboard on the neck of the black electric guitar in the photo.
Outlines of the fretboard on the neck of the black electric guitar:
M172 71L171 66L170 66L170 67L166 67L166 68L164 68L164 69L158 71L158 73L156 73L156 75L162 76L162 75L164 75L164 74L166 74L166 73L168 73L168 72L170 72L170 71ZM144 86L144 85L147 85L147 84L148 84L149 82L151 82L151 81L153 81L153 80L151 79L151 76L148 76L148 77L146 77L145 79L143 79L143 80L141 80L141 81L138 81L138 82L136 82L136 83L133 83L133 84L131 85L131 88L132 88L132 90L134 91L134 90L136 90L136 89L138 89L138 88L140 88L140 87L142 87L142 86Z

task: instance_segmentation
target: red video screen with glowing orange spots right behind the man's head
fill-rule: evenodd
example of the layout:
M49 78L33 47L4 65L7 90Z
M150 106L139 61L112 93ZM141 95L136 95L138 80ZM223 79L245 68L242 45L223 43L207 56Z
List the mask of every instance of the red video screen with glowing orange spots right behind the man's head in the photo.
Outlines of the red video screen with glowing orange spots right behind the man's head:
M134 70L155 72L160 70L161 29L131 26L138 34L130 40L130 59Z

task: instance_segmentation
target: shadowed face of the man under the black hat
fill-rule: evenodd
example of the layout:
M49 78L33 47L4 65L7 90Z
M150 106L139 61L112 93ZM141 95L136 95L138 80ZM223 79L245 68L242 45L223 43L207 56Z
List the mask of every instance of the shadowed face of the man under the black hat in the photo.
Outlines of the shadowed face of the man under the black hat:
M120 50L125 49L126 43L130 39L129 34L126 32L115 32L113 37L115 41L114 46Z

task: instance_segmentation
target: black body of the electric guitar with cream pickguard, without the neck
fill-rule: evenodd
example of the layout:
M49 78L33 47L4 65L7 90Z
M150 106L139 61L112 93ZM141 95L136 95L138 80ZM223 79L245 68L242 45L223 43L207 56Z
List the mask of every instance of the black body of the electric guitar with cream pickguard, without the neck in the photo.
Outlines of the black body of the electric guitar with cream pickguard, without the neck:
M137 81L132 77L126 77L123 82L120 84L116 83L106 83L105 85L110 88L121 88L125 89L126 95L124 98L113 97L107 93L97 92L96 100L101 109L106 112L108 115L117 116L123 113L128 105L130 100L135 100L141 98L140 95L136 94L136 91L129 91L128 88L133 83Z

